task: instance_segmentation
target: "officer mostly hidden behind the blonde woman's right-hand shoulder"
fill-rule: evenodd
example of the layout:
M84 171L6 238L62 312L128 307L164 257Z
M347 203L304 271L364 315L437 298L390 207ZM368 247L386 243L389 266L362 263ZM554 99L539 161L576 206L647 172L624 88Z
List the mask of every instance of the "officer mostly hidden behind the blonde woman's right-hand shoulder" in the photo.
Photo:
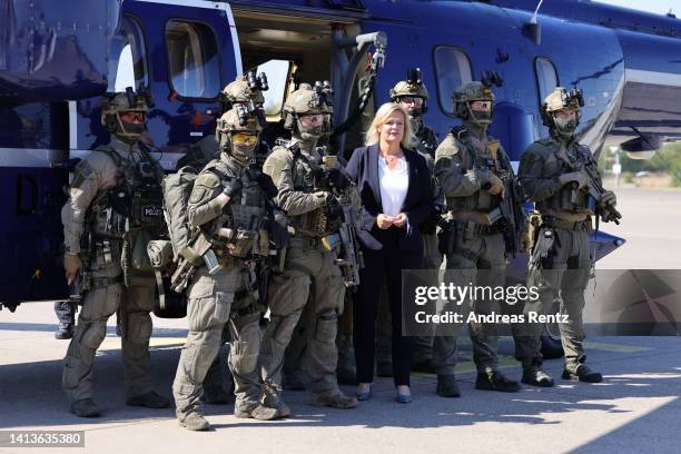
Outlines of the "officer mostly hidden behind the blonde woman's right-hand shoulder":
M401 103L409 114L409 122L414 131L412 148L418 151L433 171L435 149L438 141L435 132L424 125L423 114L427 109L428 91L422 81L421 69L411 68L407 79L399 81L391 90L391 99ZM444 211L444 197L437 182L434 181L433 199L436 210L433 218L422 227L424 241L424 269L440 269L442 254L437 248L436 225ZM392 375L391 364L391 314L387 309L387 295L382 292L376 329L376 356L378 375ZM436 349L437 352L434 352ZM443 397L461 395L454 377L454 358L456 354L455 338L452 336L416 336L414 337L413 371L437 374L436 393Z

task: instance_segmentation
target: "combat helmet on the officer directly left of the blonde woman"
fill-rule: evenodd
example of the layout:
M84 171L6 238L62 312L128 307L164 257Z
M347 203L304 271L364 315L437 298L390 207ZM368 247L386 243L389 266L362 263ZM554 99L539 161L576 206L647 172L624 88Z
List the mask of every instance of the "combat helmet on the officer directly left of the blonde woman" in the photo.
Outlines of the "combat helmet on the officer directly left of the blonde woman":
M303 140L318 139L332 131L333 90L327 80L316 81L315 86L300 83L299 88L288 95L284 102L284 128L297 134ZM299 118L305 115L324 115L319 126L303 127Z

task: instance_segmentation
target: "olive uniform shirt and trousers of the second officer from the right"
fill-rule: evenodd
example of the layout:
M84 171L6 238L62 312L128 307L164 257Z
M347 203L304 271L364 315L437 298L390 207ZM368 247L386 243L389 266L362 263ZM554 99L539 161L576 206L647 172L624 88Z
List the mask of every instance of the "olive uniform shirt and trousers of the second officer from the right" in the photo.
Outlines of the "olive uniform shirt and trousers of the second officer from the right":
M447 276L455 284L504 286L506 248L499 224L488 226L481 221L482 215L499 206L499 196L492 196L481 187L490 172L513 171L509 158L499 140L487 137L477 125L464 121L455 128L437 147L435 154L435 178L446 198L447 216L453 216L455 227L454 248L446 255ZM497 175L500 176L500 175ZM485 282L476 279L477 269L484 270ZM478 282L476 282L478 280ZM480 299L474 303L476 314L505 312L505 304ZM447 310L447 307L444 308ZM453 308L455 310L455 308ZM468 332L473 344L473 359L478 373L497 369L497 334L492 324L471 323ZM527 338L516 325L512 326L516 345L524 345ZM435 336L437 339L441 336ZM444 336L445 342L455 343L453 336ZM454 363L454 352L446 358L435 362Z

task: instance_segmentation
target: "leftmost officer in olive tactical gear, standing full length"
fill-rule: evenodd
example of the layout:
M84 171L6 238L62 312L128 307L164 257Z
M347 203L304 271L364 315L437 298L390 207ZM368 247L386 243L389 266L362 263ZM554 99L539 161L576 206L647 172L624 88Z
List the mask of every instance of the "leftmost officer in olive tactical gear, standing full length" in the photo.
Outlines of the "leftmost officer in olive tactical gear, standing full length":
M78 164L61 210L66 276L82 302L62 377L78 416L100 413L92 399L92 363L107 319L119 307L126 403L169 406L152 391L149 376L155 282L146 248L162 228L162 169L139 142L148 102L144 91L131 88L105 100L101 122L111 140Z

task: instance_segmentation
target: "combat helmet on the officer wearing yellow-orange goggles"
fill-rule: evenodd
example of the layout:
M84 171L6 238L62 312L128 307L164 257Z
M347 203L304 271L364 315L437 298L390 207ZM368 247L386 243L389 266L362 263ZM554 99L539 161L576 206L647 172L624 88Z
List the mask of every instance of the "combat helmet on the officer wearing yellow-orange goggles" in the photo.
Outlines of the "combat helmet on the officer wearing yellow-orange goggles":
M263 127L247 107L236 105L217 120L215 137L220 151L246 166L256 156Z

